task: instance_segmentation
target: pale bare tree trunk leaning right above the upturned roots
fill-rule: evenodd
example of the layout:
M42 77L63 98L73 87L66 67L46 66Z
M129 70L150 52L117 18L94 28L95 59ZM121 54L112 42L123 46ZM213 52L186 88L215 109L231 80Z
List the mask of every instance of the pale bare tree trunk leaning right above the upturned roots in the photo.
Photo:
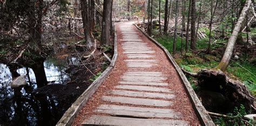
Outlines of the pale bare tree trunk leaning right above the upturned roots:
M227 66L230 62L230 58L231 58L231 55L232 55L232 52L233 52L235 41L237 40L239 31L241 30L242 22L244 22L245 16L246 16L247 11L250 8L251 4L252 4L252 1L247 0L247 4L244 5L244 8L242 9L242 11L240 13L237 24L235 24L234 30L231 34L231 37L230 37L230 39L228 39L225 53L224 53L223 58L221 59L219 65L217 67L218 69L220 69L223 72L226 71L226 68L227 68Z

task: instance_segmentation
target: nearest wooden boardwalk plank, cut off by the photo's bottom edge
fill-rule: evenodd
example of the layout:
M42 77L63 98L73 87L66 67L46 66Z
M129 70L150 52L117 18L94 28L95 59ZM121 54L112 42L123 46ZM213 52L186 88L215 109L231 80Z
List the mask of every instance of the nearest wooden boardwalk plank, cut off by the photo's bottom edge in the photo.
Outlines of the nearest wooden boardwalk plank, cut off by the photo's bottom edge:
M188 122L182 120L164 120L150 118L127 118L92 115L82 124L97 124L97 125L188 125Z

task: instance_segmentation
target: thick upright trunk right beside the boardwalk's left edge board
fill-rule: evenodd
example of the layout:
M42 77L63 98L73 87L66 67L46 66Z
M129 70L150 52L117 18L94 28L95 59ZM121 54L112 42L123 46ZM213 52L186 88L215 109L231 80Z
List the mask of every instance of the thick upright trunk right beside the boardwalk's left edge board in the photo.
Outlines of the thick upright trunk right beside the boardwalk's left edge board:
M110 45L110 11L111 1L104 0L103 3L103 18L102 18L102 36L100 38L102 45Z

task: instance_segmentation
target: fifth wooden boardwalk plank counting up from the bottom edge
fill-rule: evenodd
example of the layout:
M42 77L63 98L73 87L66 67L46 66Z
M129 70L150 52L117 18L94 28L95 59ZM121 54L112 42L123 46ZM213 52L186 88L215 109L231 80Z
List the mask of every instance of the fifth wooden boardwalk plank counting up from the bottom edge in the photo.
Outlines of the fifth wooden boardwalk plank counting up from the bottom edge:
M143 90L143 91L150 91L150 92L172 93L172 91L168 88L151 87L151 86L118 85L118 86L115 86L115 88L131 89L131 90Z

